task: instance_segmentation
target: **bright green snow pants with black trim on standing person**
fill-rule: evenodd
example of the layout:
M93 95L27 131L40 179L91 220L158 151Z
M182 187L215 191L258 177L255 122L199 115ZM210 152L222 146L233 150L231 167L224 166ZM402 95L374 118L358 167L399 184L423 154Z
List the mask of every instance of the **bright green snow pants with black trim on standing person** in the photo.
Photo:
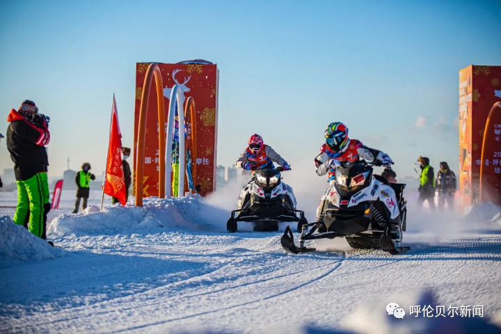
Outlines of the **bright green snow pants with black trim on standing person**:
M47 212L50 210L47 173L36 173L28 180L16 183L17 208L14 223L24 225L31 233L45 239Z

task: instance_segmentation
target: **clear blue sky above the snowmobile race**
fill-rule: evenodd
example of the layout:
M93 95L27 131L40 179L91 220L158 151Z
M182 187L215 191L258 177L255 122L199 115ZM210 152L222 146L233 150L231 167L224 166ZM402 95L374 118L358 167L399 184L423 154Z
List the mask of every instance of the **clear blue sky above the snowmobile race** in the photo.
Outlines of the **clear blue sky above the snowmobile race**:
M136 62L204 58L220 70L218 164L257 132L294 168L342 121L401 176L420 155L457 170L458 71L501 65L499 13L500 1L4 0L0 132L33 100L51 117L49 175L67 157L101 173L113 93L132 146Z

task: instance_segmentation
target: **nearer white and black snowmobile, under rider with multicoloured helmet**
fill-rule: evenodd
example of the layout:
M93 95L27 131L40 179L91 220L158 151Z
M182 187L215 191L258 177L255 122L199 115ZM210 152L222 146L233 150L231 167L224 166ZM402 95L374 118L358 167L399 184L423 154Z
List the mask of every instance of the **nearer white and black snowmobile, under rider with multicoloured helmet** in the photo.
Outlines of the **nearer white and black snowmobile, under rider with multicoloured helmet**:
M305 247L306 240L345 237L352 248L380 248L394 255L410 249L401 246L406 230L406 184L388 182L374 174L373 166L381 165L360 160L338 166L335 180L321 197L317 221L302 226L299 247L292 230L286 229L283 248L297 254L315 250Z

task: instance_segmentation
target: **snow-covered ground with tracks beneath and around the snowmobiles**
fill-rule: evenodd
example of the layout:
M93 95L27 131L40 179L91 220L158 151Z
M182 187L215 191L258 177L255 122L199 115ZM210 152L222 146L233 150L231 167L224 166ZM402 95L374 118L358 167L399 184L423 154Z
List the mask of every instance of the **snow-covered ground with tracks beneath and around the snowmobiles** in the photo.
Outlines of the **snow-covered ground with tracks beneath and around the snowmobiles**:
M291 255L280 233L225 231L237 188L209 200L149 198L143 208L79 215L70 214L73 192L63 191L61 210L49 214L52 250L13 225L14 209L0 209L10 216L0 218L0 332L501 330L494 325L501 324L500 207L461 216L410 209L404 244L411 251L402 255L353 250L344 239ZM311 220L319 193L307 190L296 196ZM90 203L99 202L93 193ZM9 203L15 194L0 193L0 205ZM388 317L390 302L404 319ZM415 318L411 305L483 305L484 317Z

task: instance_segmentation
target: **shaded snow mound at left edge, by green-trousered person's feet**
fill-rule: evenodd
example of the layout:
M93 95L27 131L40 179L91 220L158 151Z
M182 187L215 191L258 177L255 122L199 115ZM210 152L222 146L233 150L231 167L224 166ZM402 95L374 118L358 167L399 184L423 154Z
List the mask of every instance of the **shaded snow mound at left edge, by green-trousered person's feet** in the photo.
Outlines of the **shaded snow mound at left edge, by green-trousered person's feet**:
M9 216L0 216L0 261L52 259L64 253L64 250L35 237L23 226L16 225Z

